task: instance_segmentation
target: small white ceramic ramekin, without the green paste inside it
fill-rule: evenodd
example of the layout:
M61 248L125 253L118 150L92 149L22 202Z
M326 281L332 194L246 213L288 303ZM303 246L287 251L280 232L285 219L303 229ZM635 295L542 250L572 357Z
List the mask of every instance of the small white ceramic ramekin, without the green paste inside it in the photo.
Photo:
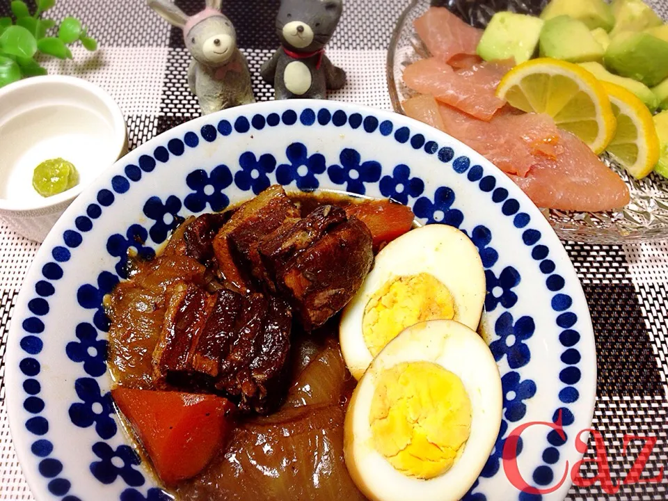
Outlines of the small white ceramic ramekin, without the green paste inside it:
M127 129L109 94L74 77L45 76L0 89L0 216L42 241L70 202L127 152ZM33 170L61 157L79 184L48 198L33 189Z

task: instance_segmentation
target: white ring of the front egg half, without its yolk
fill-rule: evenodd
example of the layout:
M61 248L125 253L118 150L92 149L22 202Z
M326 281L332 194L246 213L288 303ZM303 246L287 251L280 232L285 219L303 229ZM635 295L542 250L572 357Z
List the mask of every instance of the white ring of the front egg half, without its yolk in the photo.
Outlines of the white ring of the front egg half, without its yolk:
M461 379L471 402L471 429L463 452L447 472L431 479L395 470L374 448L369 413L376 384L385 369L427 361ZM459 500L477 479L501 426L502 389L498 367L482 338L452 320L432 320L406 328L374 359L348 406L344 454L350 475L374 501Z

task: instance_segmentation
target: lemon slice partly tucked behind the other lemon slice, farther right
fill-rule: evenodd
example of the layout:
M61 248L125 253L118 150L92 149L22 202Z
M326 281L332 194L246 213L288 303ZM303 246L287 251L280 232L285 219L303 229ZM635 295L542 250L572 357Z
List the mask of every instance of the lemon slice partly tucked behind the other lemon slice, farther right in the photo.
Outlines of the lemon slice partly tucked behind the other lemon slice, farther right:
M603 82L617 118L617 131L607 152L636 179L642 179L659 161L659 138L652 114L635 95L623 87Z

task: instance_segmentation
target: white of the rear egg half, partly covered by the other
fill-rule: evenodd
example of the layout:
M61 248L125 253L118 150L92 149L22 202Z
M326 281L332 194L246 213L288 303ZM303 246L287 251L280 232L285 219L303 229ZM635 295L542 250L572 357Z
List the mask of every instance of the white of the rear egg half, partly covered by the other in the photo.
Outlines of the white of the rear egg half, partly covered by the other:
M454 320L477 328L486 294L477 248L466 234L452 226L431 224L415 228L378 253L371 273L343 310L339 325L341 351L356 379L362 377L374 358L362 331L367 303L390 280L418 273L429 273L440 280L454 300Z

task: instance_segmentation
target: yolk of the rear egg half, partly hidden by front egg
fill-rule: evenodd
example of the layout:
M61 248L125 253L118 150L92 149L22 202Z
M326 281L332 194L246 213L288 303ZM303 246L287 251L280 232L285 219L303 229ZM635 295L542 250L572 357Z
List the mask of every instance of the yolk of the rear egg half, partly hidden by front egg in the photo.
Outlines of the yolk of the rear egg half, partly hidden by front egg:
M450 290L433 275L418 273L389 280L367 303L362 335L372 356L406 327L427 320L454 318Z

